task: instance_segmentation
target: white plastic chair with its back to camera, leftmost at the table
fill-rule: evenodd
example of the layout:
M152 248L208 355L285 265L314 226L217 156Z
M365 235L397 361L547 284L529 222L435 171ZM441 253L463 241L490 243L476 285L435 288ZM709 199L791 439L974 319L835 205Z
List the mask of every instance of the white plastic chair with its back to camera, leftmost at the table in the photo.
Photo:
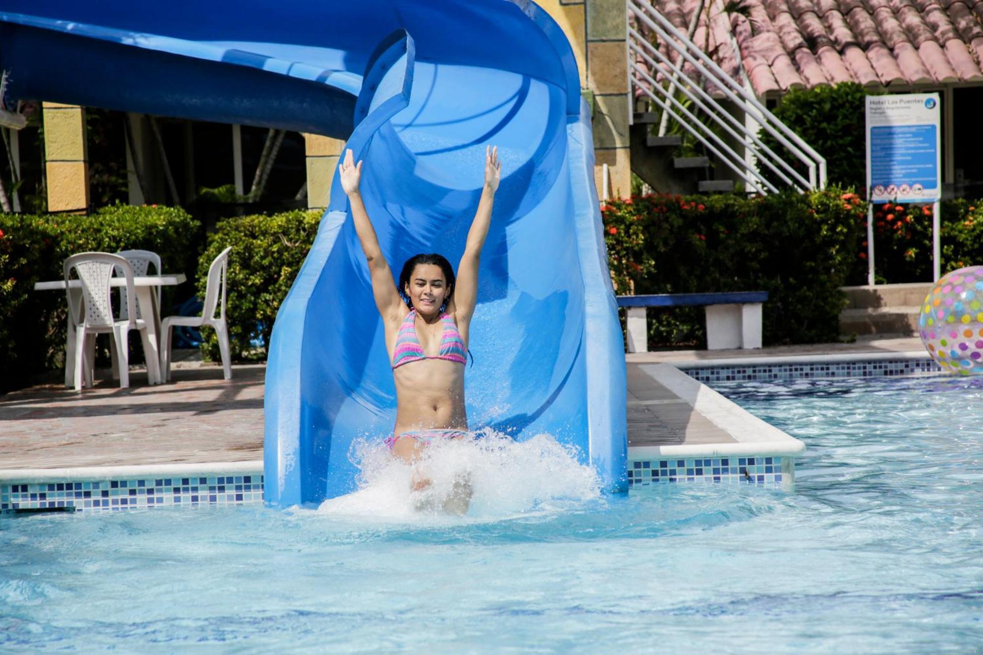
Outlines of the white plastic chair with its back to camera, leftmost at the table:
M72 302L72 292L68 288L73 268L79 275L79 281L82 284L84 317L79 316L79 312ZM87 350L92 352L92 349L86 346L88 339L90 337L94 339L95 334L110 334L112 348L116 351L116 358L120 362L120 387L130 386L128 346L131 329L140 330L140 336L144 343L144 354L149 355L152 352L143 319L132 316L126 320L117 321L113 316L110 296L112 287L109 282L114 270L122 271L126 278L127 302L136 307L134 303L136 303L137 294L133 285L133 267L122 257L109 253L80 253L65 260L65 292L68 294L69 312L72 323L75 325L75 342L68 344L66 360L72 358L75 361L75 389L77 391L82 390L84 377L88 387L92 387L93 384L93 357L91 355L87 357ZM151 371L152 367L148 365L147 375L152 378Z

